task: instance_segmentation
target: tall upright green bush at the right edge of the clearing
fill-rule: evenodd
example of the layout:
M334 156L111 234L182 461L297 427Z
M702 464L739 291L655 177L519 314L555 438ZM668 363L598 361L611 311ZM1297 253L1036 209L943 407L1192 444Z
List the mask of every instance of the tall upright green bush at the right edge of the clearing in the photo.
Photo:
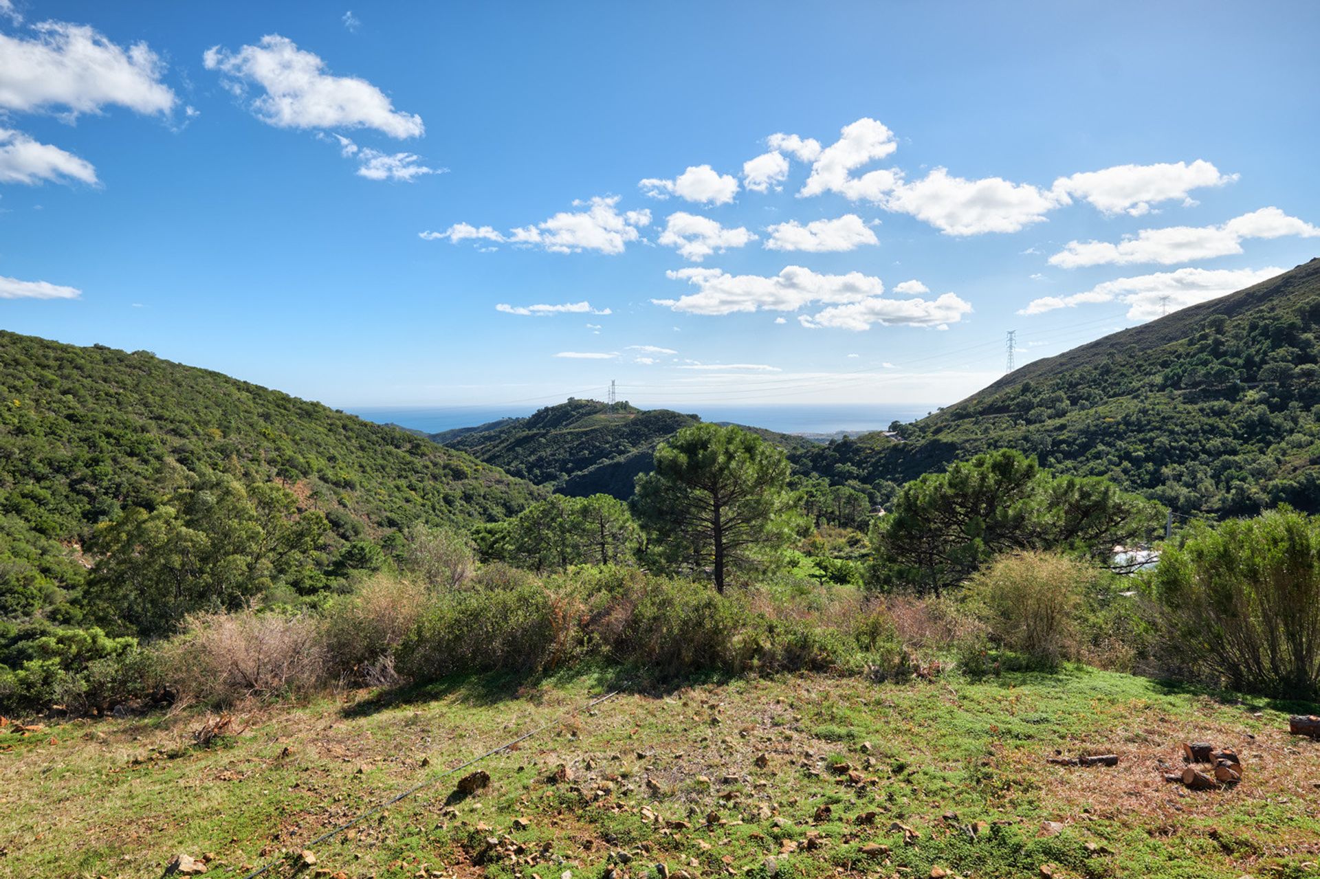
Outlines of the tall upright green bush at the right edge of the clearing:
M1166 647L1233 689L1320 697L1320 517L1280 508L1195 529L1147 577Z

